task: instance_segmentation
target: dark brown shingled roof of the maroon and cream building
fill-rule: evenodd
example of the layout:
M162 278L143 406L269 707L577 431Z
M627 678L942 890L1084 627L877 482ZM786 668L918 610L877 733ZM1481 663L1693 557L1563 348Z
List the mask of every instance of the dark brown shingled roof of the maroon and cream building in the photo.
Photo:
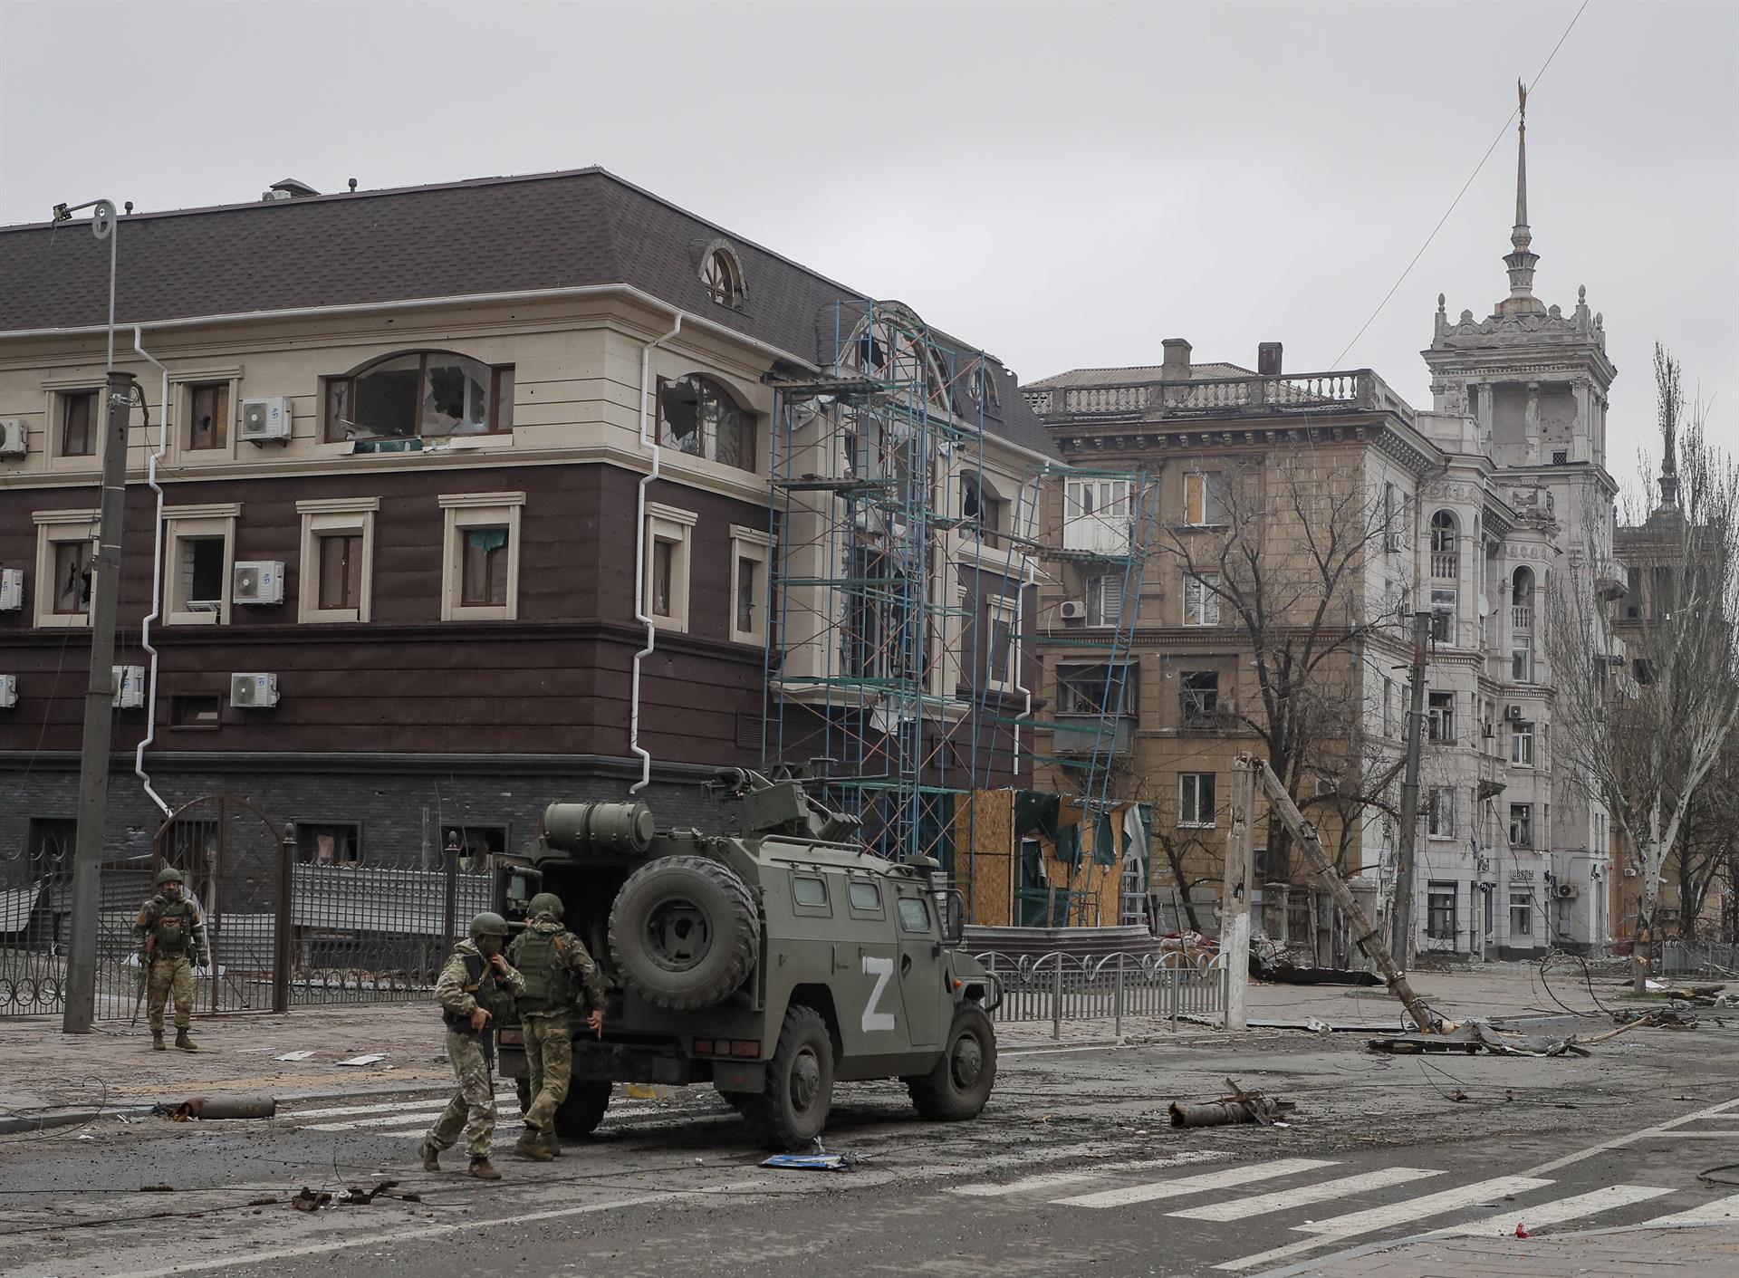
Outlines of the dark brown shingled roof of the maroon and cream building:
M741 310L701 285L720 236ZM626 283L816 365L835 310L866 301L602 169L130 214L117 275L118 323ZM0 228L0 332L99 325L106 308L108 247L82 219ZM1012 381L989 429L1056 456Z

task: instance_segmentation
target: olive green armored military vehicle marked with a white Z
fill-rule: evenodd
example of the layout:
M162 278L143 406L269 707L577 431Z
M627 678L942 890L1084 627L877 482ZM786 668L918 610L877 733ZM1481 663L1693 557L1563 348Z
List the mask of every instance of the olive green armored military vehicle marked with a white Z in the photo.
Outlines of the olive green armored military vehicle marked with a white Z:
M958 894L896 862L795 779L725 769L743 833L656 829L645 803L551 803L496 906L555 892L598 962L603 1036L576 1017L562 1135L602 1122L612 1082L711 1083L772 1149L809 1146L835 1082L904 1080L925 1118L976 1118L996 1078L995 981L958 949ZM527 1097L523 1040L501 1073Z

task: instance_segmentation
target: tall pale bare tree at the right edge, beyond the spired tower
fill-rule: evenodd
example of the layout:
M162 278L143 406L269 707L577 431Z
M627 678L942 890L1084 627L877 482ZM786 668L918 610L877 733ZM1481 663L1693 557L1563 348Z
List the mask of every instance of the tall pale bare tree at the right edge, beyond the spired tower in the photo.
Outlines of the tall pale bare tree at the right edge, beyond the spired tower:
M1548 596L1544 645L1558 760L1570 784L1612 814L1642 880L1631 951L1638 989L1657 934L1666 857L1739 723L1739 466L1708 442L1701 412L1683 423L1678 362L1659 346L1656 393L1666 450L1661 504L1643 525L1649 605L1626 628L1626 649L1595 588L1610 551L1600 544L1605 522L1589 511L1570 579Z

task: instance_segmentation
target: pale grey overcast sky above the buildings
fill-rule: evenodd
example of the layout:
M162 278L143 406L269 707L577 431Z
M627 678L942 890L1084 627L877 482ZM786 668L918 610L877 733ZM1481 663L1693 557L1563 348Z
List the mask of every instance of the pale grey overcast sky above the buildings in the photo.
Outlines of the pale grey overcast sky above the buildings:
M0 0L0 223L602 163L1028 381L1282 341L1429 407L1436 294L1506 296L1513 132L1337 356L1579 2ZM1529 104L1536 294L1605 313L1621 480L1656 341L1739 442L1736 14L1593 0Z

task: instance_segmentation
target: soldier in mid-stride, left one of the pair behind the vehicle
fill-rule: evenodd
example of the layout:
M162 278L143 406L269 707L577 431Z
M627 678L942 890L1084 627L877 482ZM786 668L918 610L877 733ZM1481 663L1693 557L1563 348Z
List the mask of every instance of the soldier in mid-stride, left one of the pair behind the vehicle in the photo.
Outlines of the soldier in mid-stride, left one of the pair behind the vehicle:
M423 1137L423 1168L440 1170L440 1151L454 1144L463 1130L470 1172L478 1181L499 1181L501 1172L489 1162L489 1137L496 1132L496 1083L490 1078L490 1022L513 1008L513 996L525 993L525 981L501 955L508 942L508 920L483 911L471 920L470 941L454 946L447 967L435 982L435 1000L447 1022L447 1059L459 1075L459 1092L447 1111Z

